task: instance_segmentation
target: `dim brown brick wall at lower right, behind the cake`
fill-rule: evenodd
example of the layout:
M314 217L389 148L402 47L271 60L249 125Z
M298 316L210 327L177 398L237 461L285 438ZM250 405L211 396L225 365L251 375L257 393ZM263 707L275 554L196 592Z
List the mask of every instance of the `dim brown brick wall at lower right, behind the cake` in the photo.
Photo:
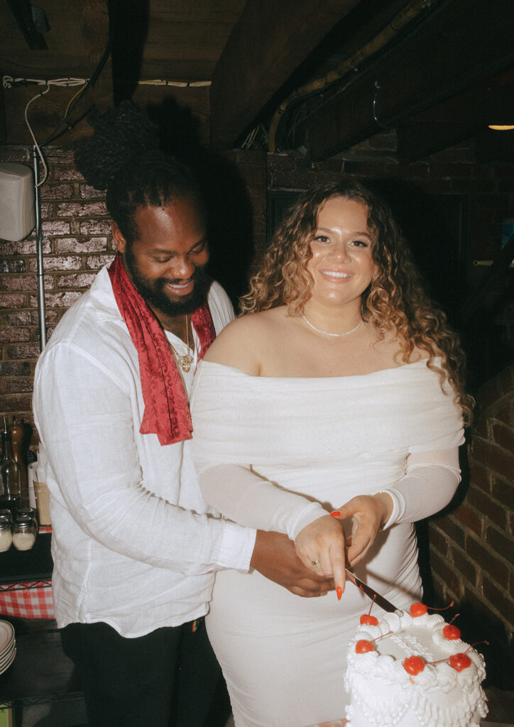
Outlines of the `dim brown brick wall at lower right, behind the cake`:
M430 523L430 560L438 601L457 603L470 638L489 639L498 664L502 653L514 662L514 366L477 400L469 473L457 507Z

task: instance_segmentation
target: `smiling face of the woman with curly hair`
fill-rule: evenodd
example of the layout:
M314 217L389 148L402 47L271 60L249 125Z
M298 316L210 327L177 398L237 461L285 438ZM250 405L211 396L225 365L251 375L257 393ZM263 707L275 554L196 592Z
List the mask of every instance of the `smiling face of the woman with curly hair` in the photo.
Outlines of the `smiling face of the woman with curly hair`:
M311 300L324 305L358 301L369 286L374 262L368 210L347 197L331 197L318 213L307 269L313 277Z

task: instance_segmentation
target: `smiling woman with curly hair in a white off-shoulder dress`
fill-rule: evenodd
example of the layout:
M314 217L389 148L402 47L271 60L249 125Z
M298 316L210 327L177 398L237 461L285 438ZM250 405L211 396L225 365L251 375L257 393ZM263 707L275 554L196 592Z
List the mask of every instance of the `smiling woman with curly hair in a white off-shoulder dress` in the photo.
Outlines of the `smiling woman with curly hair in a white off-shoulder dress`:
M303 194L242 308L193 387L204 497L288 534L336 594L223 571L207 625L236 726L302 727L343 716L346 643L368 610L344 566L398 608L420 597L414 523L457 489L472 400L390 209L356 182Z

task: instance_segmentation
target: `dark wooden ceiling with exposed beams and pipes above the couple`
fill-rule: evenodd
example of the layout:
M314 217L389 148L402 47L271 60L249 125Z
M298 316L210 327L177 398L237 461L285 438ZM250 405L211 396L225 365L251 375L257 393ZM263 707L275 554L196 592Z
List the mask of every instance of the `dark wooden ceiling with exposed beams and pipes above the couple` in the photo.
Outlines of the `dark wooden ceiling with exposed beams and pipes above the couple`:
M68 144L93 105L173 105L216 149L313 160L395 129L415 161L514 161L513 0L7 0L0 140ZM46 84L33 81L91 79ZM76 85L71 85L76 83Z

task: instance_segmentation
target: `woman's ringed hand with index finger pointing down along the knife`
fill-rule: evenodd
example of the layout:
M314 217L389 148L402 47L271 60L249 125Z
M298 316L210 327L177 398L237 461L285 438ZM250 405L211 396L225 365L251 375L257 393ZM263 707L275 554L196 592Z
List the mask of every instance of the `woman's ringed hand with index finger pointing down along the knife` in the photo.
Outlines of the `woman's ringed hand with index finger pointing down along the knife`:
M345 534L337 518L324 515L297 534L294 540L298 558L311 571L332 576L337 598L345 590Z

